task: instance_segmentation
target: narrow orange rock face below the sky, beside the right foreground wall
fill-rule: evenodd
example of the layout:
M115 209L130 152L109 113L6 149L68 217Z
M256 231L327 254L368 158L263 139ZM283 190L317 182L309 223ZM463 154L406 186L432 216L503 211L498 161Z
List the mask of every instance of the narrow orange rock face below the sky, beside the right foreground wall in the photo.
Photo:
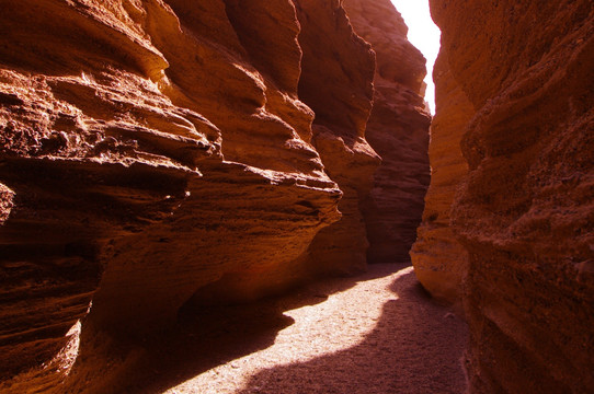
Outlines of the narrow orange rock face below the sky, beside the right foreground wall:
M468 173L460 149L473 108L449 72L446 53L434 66L436 116L431 124L431 186L411 250L414 273L433 297L460 305L468 254L449 225L450 208Z

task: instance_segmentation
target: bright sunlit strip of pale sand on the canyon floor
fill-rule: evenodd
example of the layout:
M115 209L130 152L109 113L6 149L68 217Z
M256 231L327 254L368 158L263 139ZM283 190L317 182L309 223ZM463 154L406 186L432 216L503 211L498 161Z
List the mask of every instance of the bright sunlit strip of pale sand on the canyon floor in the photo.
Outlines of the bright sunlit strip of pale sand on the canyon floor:
M391 267L393 270L395 266ZM307 362L355 347L376 328L384 305L398 299L390 285L411 271L412 267L388 271L382 277L358 281L347 290L332 293L318 304L289 310L285 315L295 323L278 333L274 345L215 367L165 393L235 393L262 370ZM319 294L321 299L325 296Z

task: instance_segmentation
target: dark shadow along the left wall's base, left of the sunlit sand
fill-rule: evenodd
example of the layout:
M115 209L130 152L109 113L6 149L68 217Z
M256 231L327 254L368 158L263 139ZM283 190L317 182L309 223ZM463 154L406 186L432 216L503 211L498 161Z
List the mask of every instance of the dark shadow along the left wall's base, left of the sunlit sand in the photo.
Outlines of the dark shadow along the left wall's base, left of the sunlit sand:
M319 304L359 281L385 277L407 265L385 266L389 268L321 280L251 304L202 308L183 316L174 331L140 346L108 344L105 351L98 344L103 339L85 340L83 333L80 359L62 387L68 393L162 393L217 366L271 347L278 332L294 324L285 311ZM118 348L116 355L114 348Z

